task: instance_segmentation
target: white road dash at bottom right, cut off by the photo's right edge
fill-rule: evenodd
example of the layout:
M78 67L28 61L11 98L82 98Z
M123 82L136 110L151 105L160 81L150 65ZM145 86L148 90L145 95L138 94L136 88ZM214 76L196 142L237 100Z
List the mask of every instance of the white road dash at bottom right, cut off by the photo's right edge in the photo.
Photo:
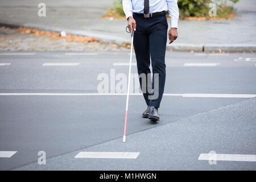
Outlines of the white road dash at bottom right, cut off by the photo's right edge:
M214 158L214 159L213 159L213 158ZM225 160L225 161L256 162L256 155L242 155L242 154L200 154L198 160Z

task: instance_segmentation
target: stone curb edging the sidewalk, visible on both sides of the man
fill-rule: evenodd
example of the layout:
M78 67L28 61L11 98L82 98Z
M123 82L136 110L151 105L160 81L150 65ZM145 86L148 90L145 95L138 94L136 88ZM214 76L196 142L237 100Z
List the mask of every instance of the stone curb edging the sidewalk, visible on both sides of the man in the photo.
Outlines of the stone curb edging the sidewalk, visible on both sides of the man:
M56 27L42 27L40 25L32 24L8 24L0 23L0 26L5 26L9 28L19 28L19 27L28 27L36 28L40 31L51 31L51 32L61 32L65 31L67 34L76 35L76 36L88 36L90 38L95 38L104 43L114 43L114 44L123 44L130 43L130 40L121 38L119 36L107 35L107 34L98 34L95 32L89 31L80 31L80 30L70 30L65 28L56 28ZM167 50L172 51L195 51L195 52L256 52L256 44L187 44L187 43L167 43Z

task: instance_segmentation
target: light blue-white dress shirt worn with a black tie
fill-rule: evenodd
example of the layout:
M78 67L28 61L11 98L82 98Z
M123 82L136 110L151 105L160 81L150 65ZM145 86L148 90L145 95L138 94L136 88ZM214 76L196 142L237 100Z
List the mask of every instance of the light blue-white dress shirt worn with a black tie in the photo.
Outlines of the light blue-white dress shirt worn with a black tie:
M122 0L122 3L126 19L133 16L133 13L144 13L144 0ZM179 19L177 0L150 0L149 4L149 13L157 13L168 10L171 18L171 28L177 28L177 22Z

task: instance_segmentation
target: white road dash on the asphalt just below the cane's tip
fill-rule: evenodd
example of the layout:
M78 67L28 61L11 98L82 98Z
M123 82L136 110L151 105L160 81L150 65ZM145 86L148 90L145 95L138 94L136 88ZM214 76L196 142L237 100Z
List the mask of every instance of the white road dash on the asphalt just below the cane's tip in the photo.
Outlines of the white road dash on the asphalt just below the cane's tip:
M137 159L139 152L79 152L75 158Z

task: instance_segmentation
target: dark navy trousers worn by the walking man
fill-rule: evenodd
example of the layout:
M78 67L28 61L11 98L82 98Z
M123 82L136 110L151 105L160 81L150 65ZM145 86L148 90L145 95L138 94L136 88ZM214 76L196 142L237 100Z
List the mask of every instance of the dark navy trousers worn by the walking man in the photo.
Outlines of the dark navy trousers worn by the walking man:
M152 18L144 18L142 16L133 15L136 21L136 31L134 32L134 49L137 59L138 74L144 73L146 76L150 72L150 57L152 64L152 88L154 89L155 73L159 75L158 98L148 99L150 93L143 93L144 99L148 106L159 107L164 92L164 84L166 81L166 42L168 23L166 16L156 16ZM148 78L148 77L147 77ZM150 78L151 80L151 78ZM142 88L142 78L139 78ZM148 81L147 81L148 83ZM148 85L146 85L148 88ZM148 90L147 90L148 91Z

